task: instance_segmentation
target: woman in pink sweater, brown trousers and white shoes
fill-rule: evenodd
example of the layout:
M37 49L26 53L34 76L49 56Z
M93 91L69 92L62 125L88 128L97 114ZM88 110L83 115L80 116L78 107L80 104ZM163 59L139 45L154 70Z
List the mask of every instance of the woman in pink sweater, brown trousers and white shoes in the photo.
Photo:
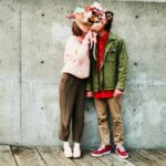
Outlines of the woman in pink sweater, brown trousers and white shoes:
M60 139L65 157L81 157L80 142L84 126L85 81L90 74L89 48L92 38L89 25L74 20L66 41L64 65L60 81ZM72 122L73 151L69 143Z

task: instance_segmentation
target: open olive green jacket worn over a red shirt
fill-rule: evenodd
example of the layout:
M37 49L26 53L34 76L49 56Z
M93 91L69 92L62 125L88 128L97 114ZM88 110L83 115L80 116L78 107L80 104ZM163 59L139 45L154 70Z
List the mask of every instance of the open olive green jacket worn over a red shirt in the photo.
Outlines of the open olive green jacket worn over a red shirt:
M96 56L97 49L95 51ZM86 91L125 89L128 55L123 39L111 34L106 42L101 71L96 70L96 60L93 51L90 51L91 66Z

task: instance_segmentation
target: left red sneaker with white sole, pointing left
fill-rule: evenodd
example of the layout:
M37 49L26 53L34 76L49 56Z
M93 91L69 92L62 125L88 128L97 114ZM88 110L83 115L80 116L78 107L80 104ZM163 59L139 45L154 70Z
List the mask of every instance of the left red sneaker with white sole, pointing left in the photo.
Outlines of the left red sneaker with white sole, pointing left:
M102 145L98 149L92 152L92 156L98 157L111 153L111 145Z

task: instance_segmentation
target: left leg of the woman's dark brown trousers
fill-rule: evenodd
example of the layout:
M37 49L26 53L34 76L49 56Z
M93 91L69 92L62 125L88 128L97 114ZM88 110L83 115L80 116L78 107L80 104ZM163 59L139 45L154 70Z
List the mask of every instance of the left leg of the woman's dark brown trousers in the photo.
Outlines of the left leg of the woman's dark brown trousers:
M60 139L68 141L76 95L76 83L71 74L62 74L60 82Z

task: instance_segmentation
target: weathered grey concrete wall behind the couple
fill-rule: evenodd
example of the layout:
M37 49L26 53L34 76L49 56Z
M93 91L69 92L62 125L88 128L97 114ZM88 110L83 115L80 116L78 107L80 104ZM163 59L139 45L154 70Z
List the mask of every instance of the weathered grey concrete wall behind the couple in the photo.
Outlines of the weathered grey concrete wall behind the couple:
M65 14L87 0L0 0L0 143L61 145L59 80L71 22ZM115 13L113 31L129 54L123 98L125 145L166 147L166 3L100 1ZM100 144L86 100L83 145Z

